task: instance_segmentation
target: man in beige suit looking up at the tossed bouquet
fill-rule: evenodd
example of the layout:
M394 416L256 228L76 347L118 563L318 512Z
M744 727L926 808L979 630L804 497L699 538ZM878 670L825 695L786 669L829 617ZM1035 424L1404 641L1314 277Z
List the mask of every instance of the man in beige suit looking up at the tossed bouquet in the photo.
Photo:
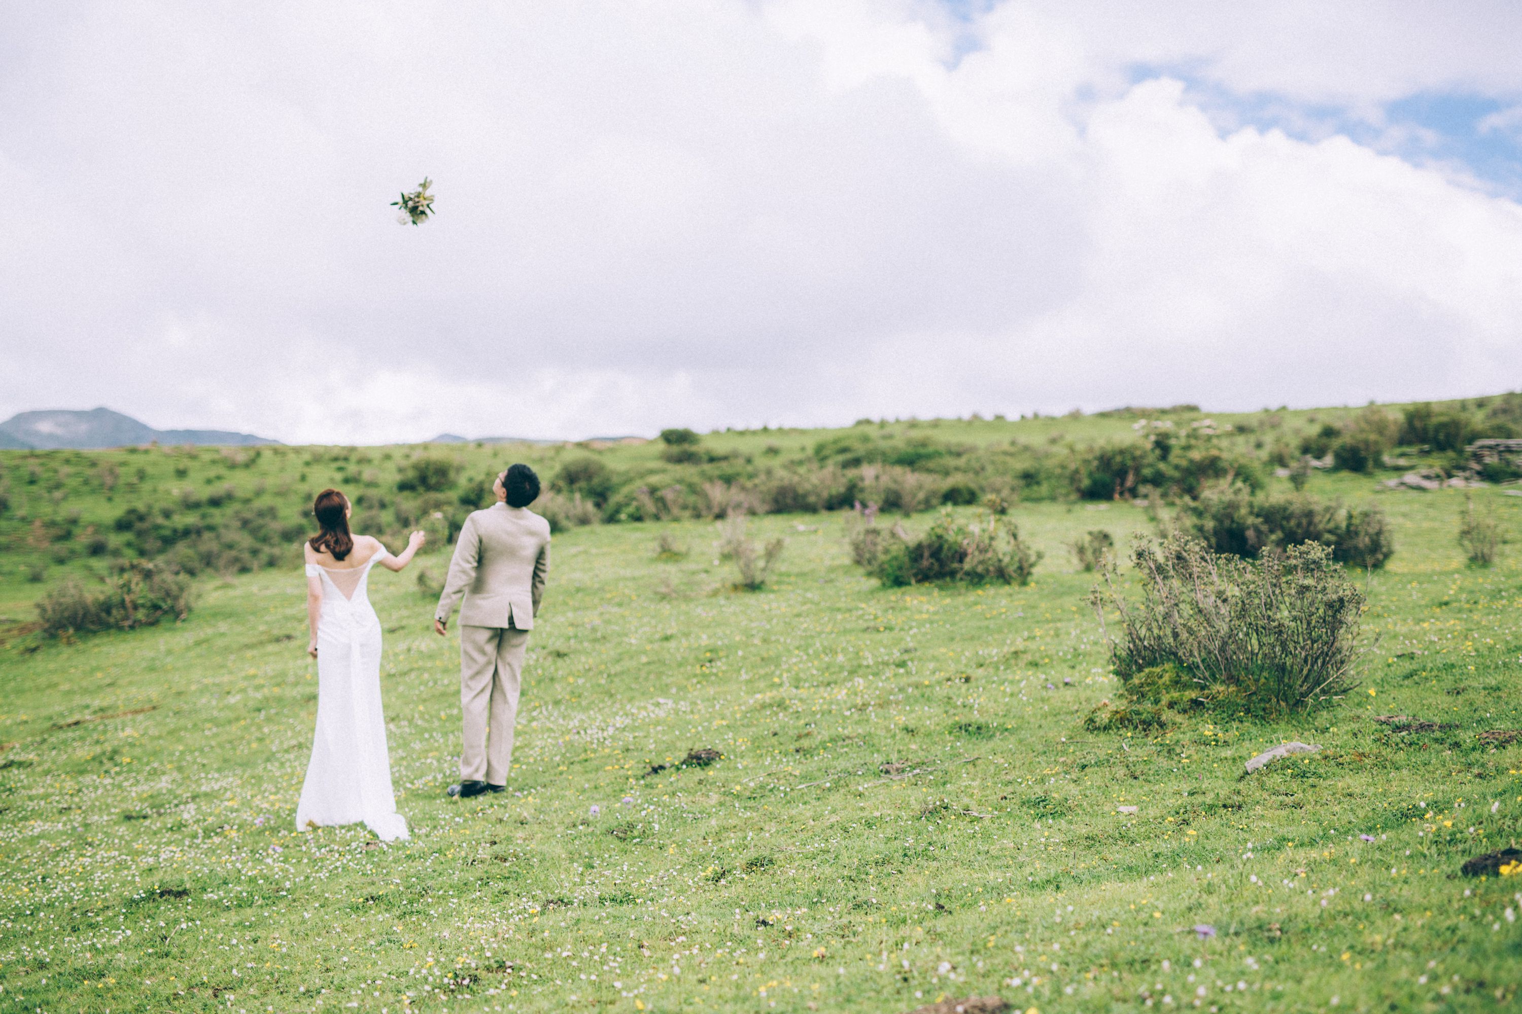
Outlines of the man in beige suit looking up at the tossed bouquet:
M460 784L449 795L501 792L513 769L513 722L524 649L549 573L549 521L528 509L539 476L513 465L492 485L496 503L466 518L434 611L443 637L460 596Z

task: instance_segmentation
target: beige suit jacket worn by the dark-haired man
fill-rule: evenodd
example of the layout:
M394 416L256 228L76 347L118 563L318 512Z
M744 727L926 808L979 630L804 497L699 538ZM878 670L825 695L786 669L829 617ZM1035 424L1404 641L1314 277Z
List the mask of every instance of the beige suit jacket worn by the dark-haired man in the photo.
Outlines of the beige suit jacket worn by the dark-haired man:
M495 503L466 518L434 617L449 622L460 596L464 626L534 628L549 575L549 521Z

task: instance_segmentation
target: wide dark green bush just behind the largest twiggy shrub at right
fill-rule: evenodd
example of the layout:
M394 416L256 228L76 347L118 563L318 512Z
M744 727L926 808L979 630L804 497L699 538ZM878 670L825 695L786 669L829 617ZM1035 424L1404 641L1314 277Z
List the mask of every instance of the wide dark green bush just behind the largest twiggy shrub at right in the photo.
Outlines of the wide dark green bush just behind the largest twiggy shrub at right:
M1218 553L1257 556L1268 549L1320 543L1338 562L1376 569L1394 553L1377 508L1344 508L1306 494L1262 497L1240 483L1207 490L1180 509L1186 532Z

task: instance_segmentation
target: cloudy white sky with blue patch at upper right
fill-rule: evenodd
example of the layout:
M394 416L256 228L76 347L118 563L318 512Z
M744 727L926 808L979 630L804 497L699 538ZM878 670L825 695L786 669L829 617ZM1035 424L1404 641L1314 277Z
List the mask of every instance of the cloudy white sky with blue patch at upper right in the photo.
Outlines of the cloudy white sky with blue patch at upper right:
M380 442L1519 388L1519 38L1514 0L18 0L0 418Z

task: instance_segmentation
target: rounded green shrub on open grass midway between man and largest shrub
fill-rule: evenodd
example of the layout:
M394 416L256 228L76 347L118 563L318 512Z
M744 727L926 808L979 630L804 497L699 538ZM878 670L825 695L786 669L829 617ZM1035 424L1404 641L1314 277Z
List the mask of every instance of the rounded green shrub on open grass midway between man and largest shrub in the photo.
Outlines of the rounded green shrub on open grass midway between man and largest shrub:
M936 581L1024 585L1041 561L1014 524L994 515L968 526L942 514L918 540L895 528L883 541L872 573L884 587Z

